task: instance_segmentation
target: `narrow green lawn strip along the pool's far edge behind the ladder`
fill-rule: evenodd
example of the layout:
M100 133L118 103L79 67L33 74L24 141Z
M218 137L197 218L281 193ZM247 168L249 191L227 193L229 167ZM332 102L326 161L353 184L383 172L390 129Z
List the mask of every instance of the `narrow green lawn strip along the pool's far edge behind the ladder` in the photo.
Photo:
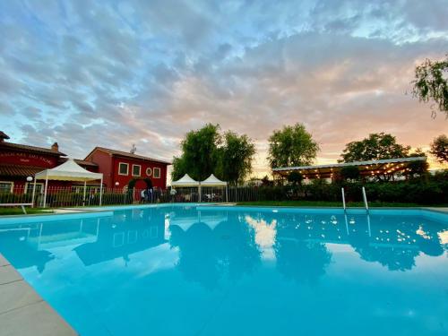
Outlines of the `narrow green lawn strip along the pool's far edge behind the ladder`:
M256 205L256 206L299 206L299 207L342 207L342 202L326 202L326 201L260 201L260 202L237 202L237 205ZM416 203L399 203L399 202L369 202L368 206L371 208L377 207L446 207L448 204L422 205ZM364 208L363 202L349 202L348 208L360 207Z

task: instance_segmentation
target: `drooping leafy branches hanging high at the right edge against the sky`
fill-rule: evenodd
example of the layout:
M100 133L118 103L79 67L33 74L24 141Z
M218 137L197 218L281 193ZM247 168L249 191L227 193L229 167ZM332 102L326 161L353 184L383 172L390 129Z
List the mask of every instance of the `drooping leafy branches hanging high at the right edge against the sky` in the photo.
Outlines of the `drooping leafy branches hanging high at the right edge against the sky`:
M448 117L448 55L441 61L426 59L415 70L412 94L420 101L433 101ZM435 108L433 116L435 116Z

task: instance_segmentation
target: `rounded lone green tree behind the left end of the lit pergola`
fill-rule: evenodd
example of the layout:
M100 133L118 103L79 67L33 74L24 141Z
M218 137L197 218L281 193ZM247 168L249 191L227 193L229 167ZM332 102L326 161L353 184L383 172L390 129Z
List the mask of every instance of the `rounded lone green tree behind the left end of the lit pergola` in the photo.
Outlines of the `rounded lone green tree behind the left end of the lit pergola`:
M271 168L310 165L318 151L319 144L300 123L275 130L269 137Z

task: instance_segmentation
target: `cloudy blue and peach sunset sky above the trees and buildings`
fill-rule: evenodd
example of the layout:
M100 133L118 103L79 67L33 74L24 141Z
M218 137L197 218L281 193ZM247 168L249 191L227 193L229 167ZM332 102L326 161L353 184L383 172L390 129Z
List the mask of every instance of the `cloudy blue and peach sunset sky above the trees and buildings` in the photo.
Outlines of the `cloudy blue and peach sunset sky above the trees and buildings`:
M259 176L296 122L316 163L376 132L427 149L448 120L406 93L448 53L447 18L447 0L1 1L0 130L73 158L135 143L172 159L218 123L254 139Z

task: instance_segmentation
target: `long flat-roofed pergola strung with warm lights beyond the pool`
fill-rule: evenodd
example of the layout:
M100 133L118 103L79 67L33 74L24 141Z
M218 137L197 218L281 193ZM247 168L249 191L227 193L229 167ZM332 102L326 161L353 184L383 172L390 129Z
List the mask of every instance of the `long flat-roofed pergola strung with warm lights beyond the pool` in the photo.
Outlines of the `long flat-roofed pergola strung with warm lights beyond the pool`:
M340 172L341 168L356 166L359 173L364 177L375 177L381 175L391 175L399 172L409 171L409 163L415 161L426 161L426 157L412 157L400 159L375 159L370 161L355 161L347 163L335 163L332 165L299 166L273 168L276 175L287 177L289 173L297 171L303 177L313 178L333 178Z

